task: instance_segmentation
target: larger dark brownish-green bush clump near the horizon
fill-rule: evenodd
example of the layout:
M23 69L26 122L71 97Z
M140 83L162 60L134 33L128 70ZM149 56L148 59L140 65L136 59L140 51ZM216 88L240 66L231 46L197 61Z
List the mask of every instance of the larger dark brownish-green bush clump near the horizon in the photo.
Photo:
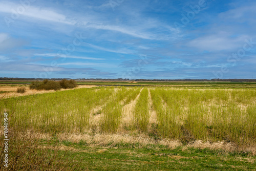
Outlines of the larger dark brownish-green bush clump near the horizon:
M45 79L43 81L31 82L29 88L35 90L60 90L60 89L73 89L77 87L75 80L62 79L61 81L53 81Z

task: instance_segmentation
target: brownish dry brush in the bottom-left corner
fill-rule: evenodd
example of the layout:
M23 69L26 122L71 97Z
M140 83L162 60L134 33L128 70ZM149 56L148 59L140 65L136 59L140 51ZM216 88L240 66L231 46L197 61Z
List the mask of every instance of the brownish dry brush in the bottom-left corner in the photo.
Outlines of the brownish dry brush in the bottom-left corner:
M3 137L3 132L0 134ZM46 147L40 145L40 139L35 139L38 134L30 132L20 133L17 130L9 132L10 140L8 141L8 167L4 166L3 156L4 146L0 148L0 170L71 170L69 164L73 161L74 157L67 158L67 152L70 148L58 146L56 144L47 144ZM0 139L1 144L4 143ZM59 151L63 155L59 155ZM81 161L80 161L81 162ZM75 164L77 166L79 163Z

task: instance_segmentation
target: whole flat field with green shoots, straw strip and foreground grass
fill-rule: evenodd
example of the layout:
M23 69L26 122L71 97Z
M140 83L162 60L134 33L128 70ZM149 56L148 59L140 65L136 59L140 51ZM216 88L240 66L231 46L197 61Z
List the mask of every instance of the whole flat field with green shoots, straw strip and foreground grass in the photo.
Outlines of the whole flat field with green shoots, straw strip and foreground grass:
M255 85L143 82L2 98L1 136L8 113L15 169L255 170Z

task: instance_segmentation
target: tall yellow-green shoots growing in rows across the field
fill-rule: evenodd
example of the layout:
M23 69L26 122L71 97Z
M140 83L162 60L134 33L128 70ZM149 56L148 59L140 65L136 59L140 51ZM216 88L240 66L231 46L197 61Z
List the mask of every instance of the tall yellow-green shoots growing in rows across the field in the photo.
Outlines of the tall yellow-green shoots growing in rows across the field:
M127 129L122 109L135 99ZM154 132L159 138L240 146L256 142L255 101L255 90L98 87L2 99L0 111L9 114L10 127L21 131L122 133L126 126L131 133ZM150 110L156 111L154 124Z

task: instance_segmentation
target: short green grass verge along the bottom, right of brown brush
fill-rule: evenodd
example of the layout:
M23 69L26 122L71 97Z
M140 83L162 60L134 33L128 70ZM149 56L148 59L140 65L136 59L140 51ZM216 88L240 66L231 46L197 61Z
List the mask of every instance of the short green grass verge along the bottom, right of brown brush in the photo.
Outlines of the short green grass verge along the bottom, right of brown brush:
M70 147L70 165L82 162L74 170L255 170L256 157L224 154L210 149L168 149L165 146L137 148L123 144L114 147L89 147L83 143L60 143ZM130 147L128 147L130 146Z

